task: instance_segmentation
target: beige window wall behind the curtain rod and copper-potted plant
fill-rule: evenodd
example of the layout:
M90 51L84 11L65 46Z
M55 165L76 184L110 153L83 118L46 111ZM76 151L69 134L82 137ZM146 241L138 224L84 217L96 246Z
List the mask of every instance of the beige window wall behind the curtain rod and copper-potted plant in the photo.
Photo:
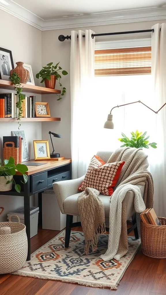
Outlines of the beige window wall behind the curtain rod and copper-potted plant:
M150 21L150 22L137 22L128 24L114 24L105 26L95 26L95 27L83 27L74 29L63 29L63 30L51 30L42 32L42 66L49 62L58 63L60 61L61 67L70 73L70 40L65 40L60 42L58 40L59 35L71 35L71 30L91 29L95 33L104 32L120 32L120 31L131 31L131 30L145 30L151 29L152 25L163 22L160 21ZM96 42L99 41L109 41L109 40L127 40L127 39L139 39L139 38L150 38L151 33L139 33L139 34L128 34L128 35L114 35L114 36L102 36L96 37ZM63 76L62 82L66 87L66 95L60 101L56 101L54 96L42 97L42 101L48 101L51 115L56 117L61 117L61 122L50 122L47 125L42 124L42 138L48 139L49 129L53 132L61 134L63 139L53 138L53 142L56 145L56 151L61 153L62 156L70 157L70 75ZM62 84L63 84L62 83ZM59 88L58 88L59 89ZM49 143L49 145L51 142ZM51 145L50 145L51 146Z

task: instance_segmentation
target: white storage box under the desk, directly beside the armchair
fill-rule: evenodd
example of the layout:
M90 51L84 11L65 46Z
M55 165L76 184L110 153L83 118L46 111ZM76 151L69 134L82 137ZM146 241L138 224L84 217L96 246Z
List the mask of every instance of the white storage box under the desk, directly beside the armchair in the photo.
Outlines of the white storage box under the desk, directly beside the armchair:
M66 227L66 214L62 214L53 188L42 193L42 228L63 230Z

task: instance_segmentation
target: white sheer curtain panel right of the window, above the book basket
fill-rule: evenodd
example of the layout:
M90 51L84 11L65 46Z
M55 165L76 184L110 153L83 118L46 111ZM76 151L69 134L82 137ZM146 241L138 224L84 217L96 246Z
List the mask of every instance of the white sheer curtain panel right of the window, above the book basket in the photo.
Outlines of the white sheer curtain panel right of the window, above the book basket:
M152 27L152 87L155 109L166 102L166 24ZM161 31L160 31L161 30ZM150 158L154 179L154 209L157 216L166 216L166 106L156 115L154 124L157 149Z

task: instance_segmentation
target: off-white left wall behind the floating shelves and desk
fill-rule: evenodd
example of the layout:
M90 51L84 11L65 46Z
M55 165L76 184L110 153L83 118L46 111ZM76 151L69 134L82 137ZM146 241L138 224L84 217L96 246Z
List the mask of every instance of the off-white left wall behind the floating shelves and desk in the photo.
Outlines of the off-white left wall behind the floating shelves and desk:
M0 10L0 27L0 47L12 50L14 67L17 61L32 65L35 84L39 85L40 83L35 78L35 74L41 69L41 31L2 10ZM6 91L0 90L0 92ZM41 95L36 95L36 98L40 101ZM0 123L0 158L3 155L2 138L11 135L12 130L18 130L17 122ZM25 131L29 155L32 159L34 158L33 140L41 139L41 123L21 123L21 130ZM0 216L0 222L6 220L8 212L23 206L23 204L24 200L21 196L0 196L0 207L5 208L4 213ZM34 198L31 198L31 204L34 204Z

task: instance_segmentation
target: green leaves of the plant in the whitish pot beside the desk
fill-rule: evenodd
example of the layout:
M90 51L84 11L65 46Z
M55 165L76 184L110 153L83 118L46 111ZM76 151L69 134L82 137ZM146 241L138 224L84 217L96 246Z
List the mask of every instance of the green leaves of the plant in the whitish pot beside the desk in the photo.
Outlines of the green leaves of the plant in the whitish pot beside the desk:
M3 165L1 165L1 159L0 159L0 176L4 176L6 178L6 184L13 182L15 190L20 193L21 186L19 184L15 183L14 178L9 180L8 176L15 175L16 171L20 172L23 175L24 182L26 183L28 180L28 176L25 174L26 171L28 171L28 168L26 165L23 164L17 164L14 165L14 159L12 157L9 158L9 160L4 160Z

